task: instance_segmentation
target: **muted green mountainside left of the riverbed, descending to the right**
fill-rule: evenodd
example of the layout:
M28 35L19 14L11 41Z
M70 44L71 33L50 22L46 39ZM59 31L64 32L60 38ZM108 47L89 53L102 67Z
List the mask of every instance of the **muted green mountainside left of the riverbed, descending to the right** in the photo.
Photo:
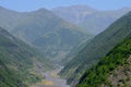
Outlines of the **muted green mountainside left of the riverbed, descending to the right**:
M36 49L0 27L0 87L25 87L40 80L55 65ZM40 71L39 71L40 70Z

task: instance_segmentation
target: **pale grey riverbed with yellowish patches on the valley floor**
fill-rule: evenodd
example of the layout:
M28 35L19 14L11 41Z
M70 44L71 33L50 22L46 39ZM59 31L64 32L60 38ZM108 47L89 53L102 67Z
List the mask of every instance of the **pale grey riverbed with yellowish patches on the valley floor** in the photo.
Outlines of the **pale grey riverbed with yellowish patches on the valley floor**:
M40 83L35 84L32 87L70 87L66 84L66 79L59 77L58 73L61 69L48 71L44 73L46 79L43 79Z

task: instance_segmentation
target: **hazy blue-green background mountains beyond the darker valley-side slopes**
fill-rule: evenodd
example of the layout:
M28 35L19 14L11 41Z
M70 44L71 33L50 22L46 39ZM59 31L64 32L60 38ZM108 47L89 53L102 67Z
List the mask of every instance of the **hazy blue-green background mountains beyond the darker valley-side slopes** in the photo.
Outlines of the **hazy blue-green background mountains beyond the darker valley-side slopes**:
M55 8L51 10L52 12L40 9L21 13L1 7L0 25L43 51L47 58L55 58L59 61L74 46L92 38L92 34L103 32L129 10L127 8L116 11L99 11L87 5L73 5Z

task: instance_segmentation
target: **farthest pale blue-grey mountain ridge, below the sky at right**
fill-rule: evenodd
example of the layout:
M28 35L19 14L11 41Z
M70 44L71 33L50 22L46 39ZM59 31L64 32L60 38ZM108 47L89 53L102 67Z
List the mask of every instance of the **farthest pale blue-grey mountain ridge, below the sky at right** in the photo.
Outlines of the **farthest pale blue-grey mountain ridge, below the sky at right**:
M111 23L131 11L131 8L100 11L87 5L59 7L51 10L56 15L76 24L85 30L97 35Z

